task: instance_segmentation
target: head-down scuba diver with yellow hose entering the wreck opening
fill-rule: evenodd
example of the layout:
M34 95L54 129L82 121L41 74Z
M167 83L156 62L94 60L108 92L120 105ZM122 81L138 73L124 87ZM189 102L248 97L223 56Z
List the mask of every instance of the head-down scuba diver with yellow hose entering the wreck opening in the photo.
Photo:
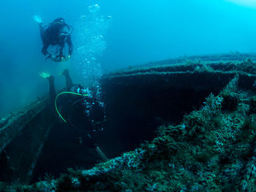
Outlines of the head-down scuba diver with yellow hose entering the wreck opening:
M95 93L89 91L88 88L73 84L68 69L64 69L61 74L66 79L66 88L57 95L54 76L45 72L39 74L47 78L50 83L50 102L52 106L55 105L61 121L77 132L80 145L94 148L100 158L107 161L108 158L94 140L95 135L103 130L102 123L105 123L104 104L97 101Z

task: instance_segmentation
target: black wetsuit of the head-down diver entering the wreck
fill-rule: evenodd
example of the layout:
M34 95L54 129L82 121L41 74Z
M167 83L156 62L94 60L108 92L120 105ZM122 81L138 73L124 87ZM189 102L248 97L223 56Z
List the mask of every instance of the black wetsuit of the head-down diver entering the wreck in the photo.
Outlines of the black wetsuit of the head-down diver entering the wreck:
M81 85L72 84L69 74L64 74L64 76L66 78L66 88L61 92L67 91L78 93L78 89L83 89ZM54 104L56 91L53 80L49 80L49 82L50 98L52 104ZM89 103L89 108L86 108L85 101ZM104 120L104 112L102 108L99 107L99 103L95 101L93 97L76 96L67 93L59 96L57 107L63 118L67 120L67 123L64 125L72 128L73 132L76 132L83 137L83 139L85 139L83 140L83 144L90 147L97 147L97 144L94 141L94 134L101 131L102 124L95 125L95 122L102 122ZM86 114L86 110L89 111L88 114Z

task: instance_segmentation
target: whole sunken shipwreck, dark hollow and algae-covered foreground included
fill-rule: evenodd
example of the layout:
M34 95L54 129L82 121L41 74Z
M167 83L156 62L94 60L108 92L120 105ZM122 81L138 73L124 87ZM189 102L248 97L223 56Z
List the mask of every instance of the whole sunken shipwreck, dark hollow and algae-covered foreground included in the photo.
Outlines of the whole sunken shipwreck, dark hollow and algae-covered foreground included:
M0 191L255 191L255 80L256 54L241 53L105 74L108 121L98 144L109 160L95 164L95 153L89 169L35 181L58 132L42 97L1 118Z

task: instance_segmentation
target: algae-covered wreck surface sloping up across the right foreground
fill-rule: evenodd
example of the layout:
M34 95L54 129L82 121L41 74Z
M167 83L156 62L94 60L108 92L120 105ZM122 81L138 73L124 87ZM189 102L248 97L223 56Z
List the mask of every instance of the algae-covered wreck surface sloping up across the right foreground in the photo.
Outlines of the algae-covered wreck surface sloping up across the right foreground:
M176 67L184 72L192 67L192 75L226 73L230 80L180 123L159 126L157 137L135 150L32 185L1 183L0 191L255 191L255 61L190 61Z

